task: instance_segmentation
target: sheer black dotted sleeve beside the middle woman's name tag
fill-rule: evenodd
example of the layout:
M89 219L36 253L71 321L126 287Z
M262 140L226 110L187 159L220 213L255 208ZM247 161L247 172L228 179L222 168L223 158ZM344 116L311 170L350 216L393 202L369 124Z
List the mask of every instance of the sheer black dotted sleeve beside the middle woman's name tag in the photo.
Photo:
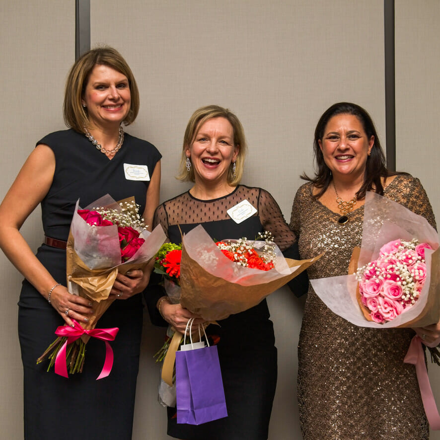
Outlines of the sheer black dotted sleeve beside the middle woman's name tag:
M284 220L278 203L263 189L258 197L258 213L264 230L272 233L275 243L282 251L293 245L296 241L295 234Z

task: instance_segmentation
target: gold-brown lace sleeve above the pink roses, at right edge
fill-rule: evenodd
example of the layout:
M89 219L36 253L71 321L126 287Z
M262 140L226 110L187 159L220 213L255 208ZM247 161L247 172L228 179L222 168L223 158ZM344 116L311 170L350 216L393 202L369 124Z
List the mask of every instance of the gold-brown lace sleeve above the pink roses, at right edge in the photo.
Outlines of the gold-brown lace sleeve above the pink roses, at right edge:
M399 174L385 189L388 199L400 203L419 216L425 217L437 229L433 208L420 180L409 174Z

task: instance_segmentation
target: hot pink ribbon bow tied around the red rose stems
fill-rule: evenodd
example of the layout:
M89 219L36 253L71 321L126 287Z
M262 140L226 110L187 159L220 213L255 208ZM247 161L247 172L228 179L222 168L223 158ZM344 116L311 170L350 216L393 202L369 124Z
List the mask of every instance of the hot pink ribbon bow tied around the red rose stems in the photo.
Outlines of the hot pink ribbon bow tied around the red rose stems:
M96 378L96 380L107 377L113 367L113 350L107 341L115 340L119 328L94 328L91 330L84 330L78 324L78 322L76 322L74 319L72 319L72 321L74 325L73 327L62 325L58 327L57 330L55 330L56 335L61 337L67 336L67 341L63 344L63 347L61 347L55 359L55 372L60 376L69 377L69 374L67 373L66 348L69 344L72 344L73 341L76 341L76 339L79 339L83 334L86 334L91 338L100 339L101 341L105 342L104 366L102 367L101 373Z

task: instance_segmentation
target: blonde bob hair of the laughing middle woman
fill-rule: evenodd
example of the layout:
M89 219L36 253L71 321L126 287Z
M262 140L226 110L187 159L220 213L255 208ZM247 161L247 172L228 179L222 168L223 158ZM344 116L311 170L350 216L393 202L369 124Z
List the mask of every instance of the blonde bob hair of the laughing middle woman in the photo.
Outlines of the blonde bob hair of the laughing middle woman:
M179 164L179 175L176 179L183 182L195 182L194 167L188 171L186 169L186 150L191 147L196 139L197 133L205 124L206 121L213 118L225 118L229 121L234 132L234 147L238 148L238 155L235 160L235 177L232 171L232 163L229 166L227 173L227 183L231 186L238 185L243 176L244 158L246 156L246 138L244 137L243 126L238 118L227 108L220 107L219 105L207 105L200 107L191 116L188 125L186 126L185 136L183 138L182 157Z

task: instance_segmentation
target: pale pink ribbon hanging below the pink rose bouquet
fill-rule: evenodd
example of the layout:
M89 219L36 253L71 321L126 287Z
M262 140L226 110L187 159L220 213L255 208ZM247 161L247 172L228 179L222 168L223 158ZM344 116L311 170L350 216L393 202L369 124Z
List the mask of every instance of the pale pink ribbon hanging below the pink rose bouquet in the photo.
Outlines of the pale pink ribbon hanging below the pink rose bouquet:
M408 352L403 360L405 364L416 366L417 380L419 381L420 394L422 395L423 407L431 429L440 430L440 415L434 399L433 390L429 383L428 371L425 365L425 356L420 336L414 336L411 340Z

